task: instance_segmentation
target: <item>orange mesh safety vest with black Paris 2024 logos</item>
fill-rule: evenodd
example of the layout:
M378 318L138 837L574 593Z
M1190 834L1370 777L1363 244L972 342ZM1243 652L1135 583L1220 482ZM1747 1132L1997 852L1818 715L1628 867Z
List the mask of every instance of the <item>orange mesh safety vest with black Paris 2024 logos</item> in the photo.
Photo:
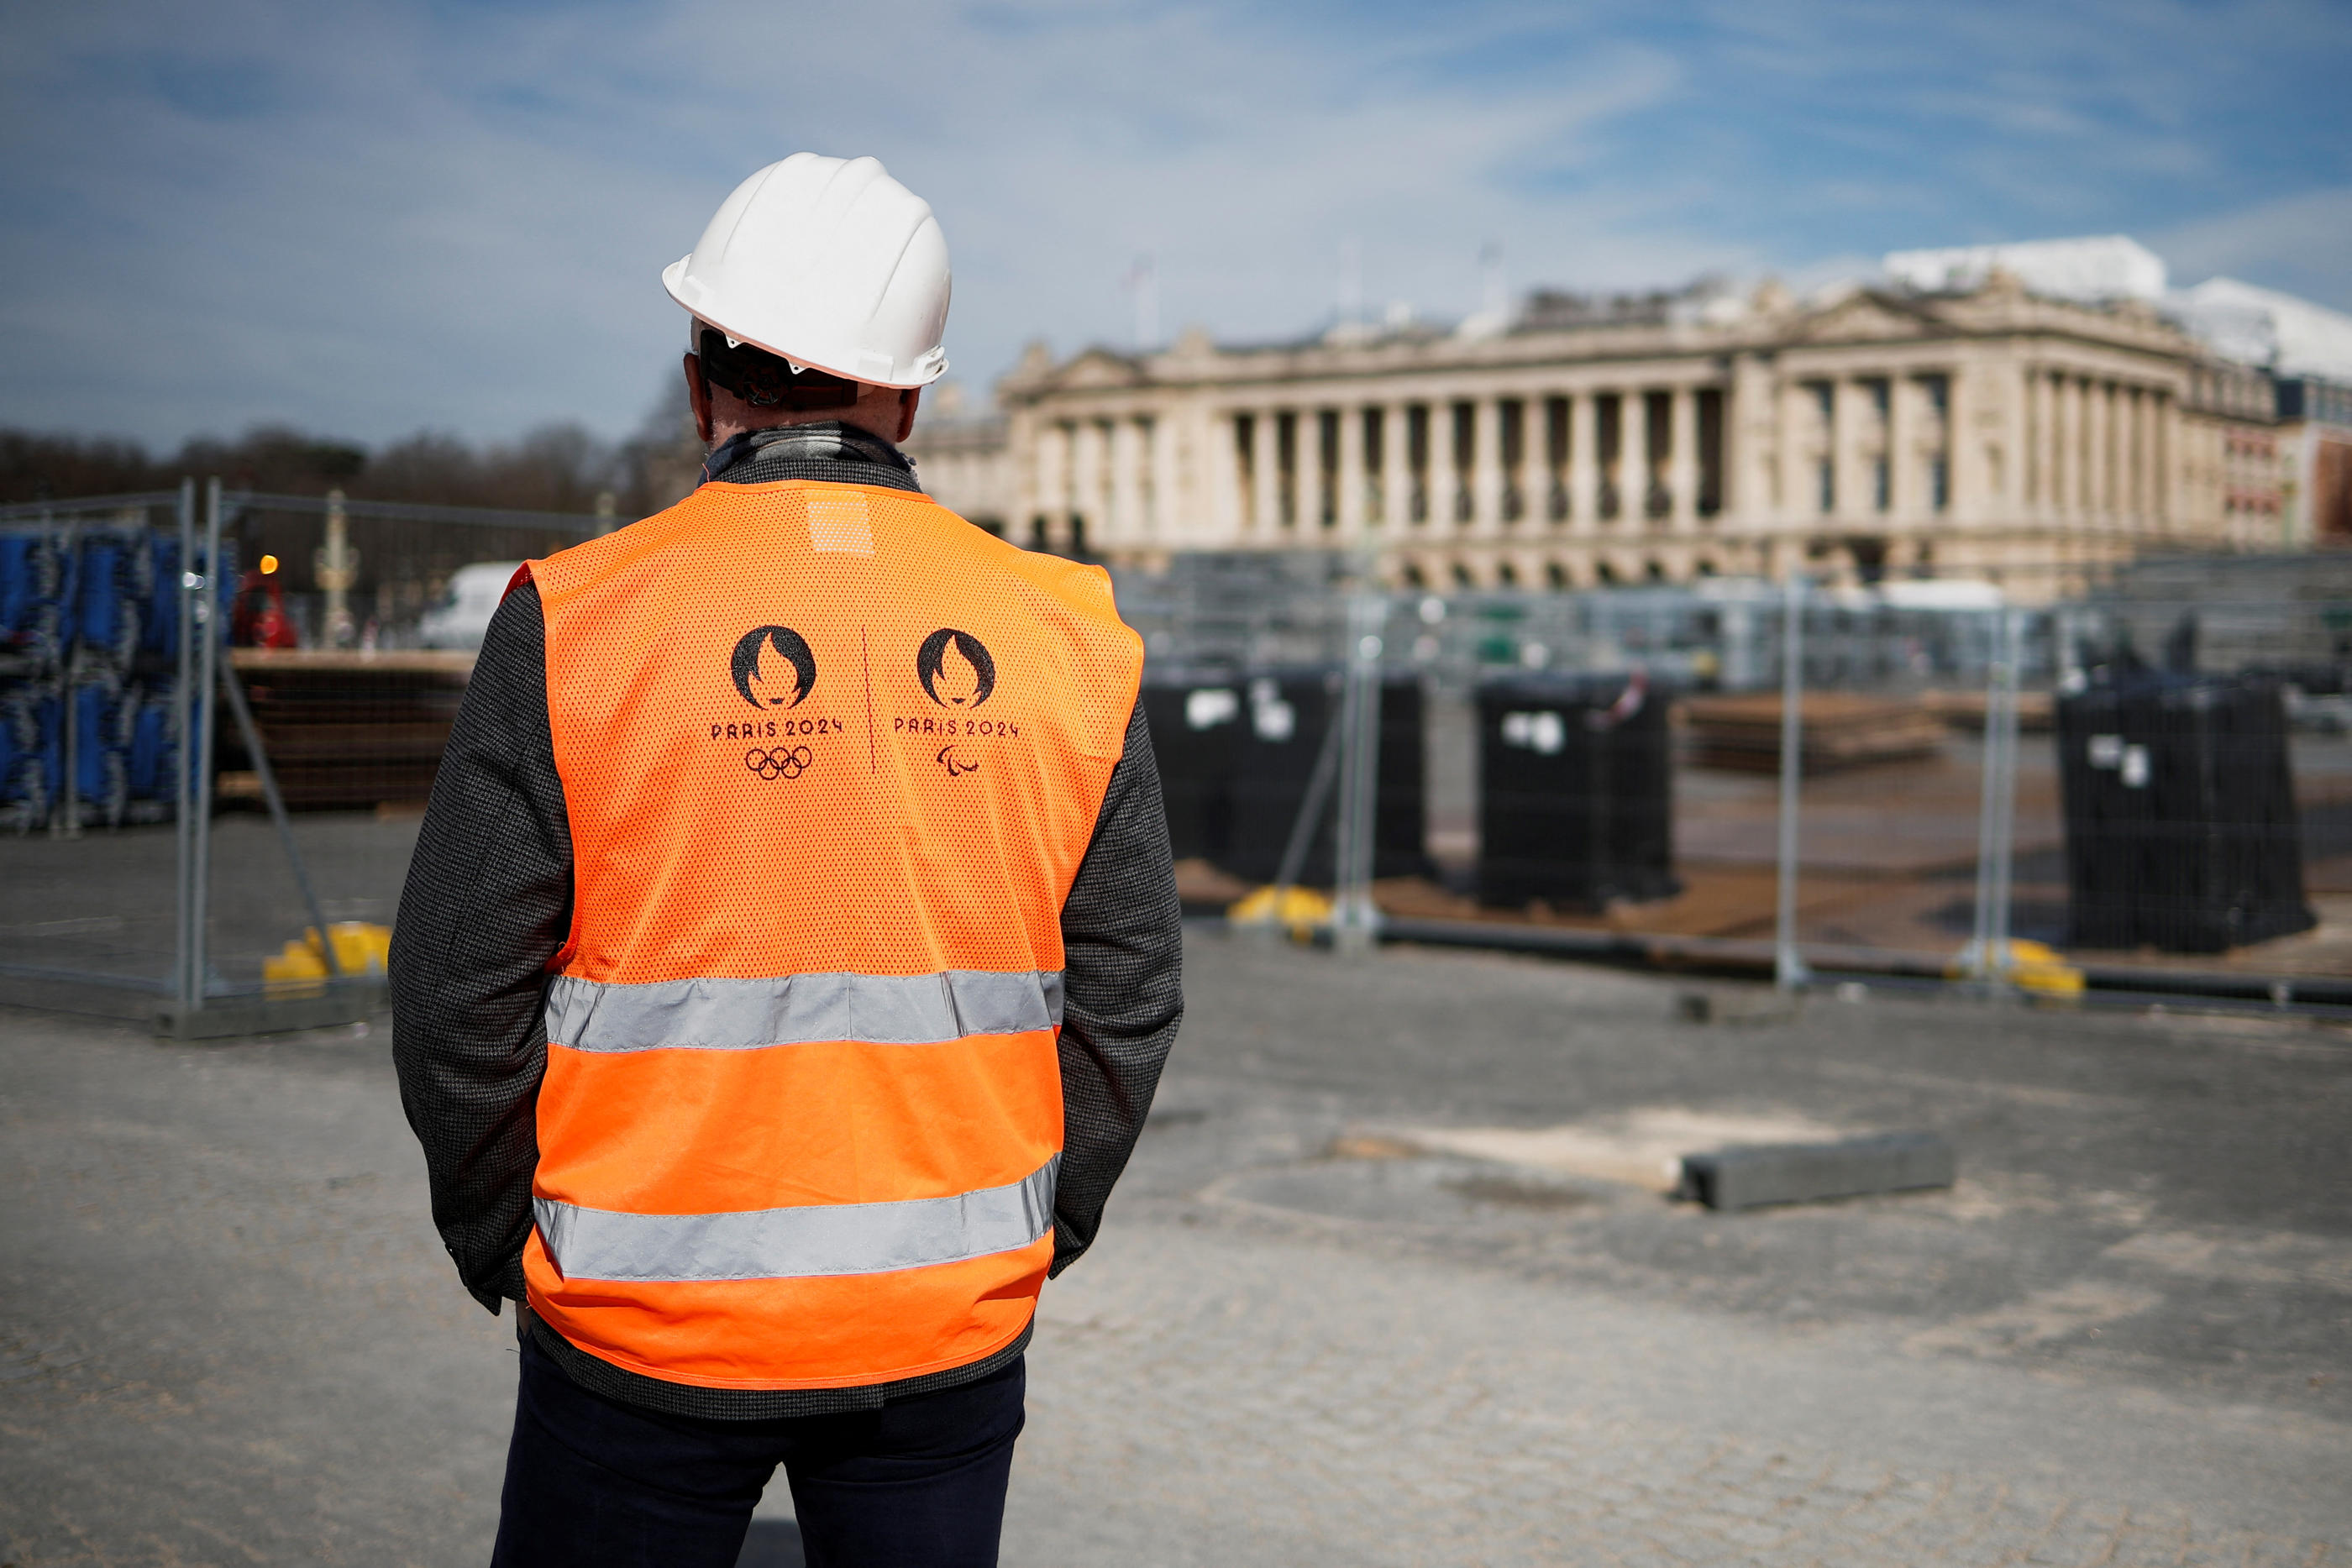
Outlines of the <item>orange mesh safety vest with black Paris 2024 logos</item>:
M529 571L574 877L532 1309L729 1389L1011 1345L1054 1260L1061 905L1143 675L1110 578L804 480Z

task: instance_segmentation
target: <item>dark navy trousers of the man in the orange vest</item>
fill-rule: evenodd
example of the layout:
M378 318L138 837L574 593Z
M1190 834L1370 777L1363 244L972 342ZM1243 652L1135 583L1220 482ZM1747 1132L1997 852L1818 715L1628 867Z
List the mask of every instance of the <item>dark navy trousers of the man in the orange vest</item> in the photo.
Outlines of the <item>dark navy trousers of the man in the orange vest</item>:
M492 1568L734 1568L776 1465L809 1568L993 1568L1028 1368L880 1410L706 1420L590 1394L529 1340Z

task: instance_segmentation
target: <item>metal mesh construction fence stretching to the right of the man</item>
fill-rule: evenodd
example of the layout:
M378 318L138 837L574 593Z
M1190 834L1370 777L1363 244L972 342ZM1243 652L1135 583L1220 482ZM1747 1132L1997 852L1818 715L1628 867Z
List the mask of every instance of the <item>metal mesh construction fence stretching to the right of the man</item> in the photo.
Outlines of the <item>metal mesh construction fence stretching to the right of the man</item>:
M2053 607L1364 581L1122 578L1192 907L1783 985L2352 1004L2352 559L2152 562Z

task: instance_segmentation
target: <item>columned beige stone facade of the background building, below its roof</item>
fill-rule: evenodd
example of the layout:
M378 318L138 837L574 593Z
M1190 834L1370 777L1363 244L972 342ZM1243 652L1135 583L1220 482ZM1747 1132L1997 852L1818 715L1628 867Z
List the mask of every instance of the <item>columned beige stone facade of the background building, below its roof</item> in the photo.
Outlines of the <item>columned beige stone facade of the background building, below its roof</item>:
M1404 583L1588 588L1799 567L2002 581L2194 531L2171 482L2183 407L2157 376L2098 353L1856 348L1484 386L1105 388L1028 423L1023 543L1374 548Z

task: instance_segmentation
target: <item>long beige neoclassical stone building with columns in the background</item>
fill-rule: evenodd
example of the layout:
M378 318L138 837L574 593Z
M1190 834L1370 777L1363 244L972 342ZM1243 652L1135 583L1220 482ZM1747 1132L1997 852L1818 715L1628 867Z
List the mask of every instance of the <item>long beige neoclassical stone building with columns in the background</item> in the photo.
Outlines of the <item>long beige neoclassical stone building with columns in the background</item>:
M1799 303L1538 294L1458 331L1042 348L1002 416L917 430L1021 543L1355 548L1397 585L1962 576L2042 599L2143 550L2281 543L2277 402L2145 301L1994 270ZM971 491L969 496L964 491Z

